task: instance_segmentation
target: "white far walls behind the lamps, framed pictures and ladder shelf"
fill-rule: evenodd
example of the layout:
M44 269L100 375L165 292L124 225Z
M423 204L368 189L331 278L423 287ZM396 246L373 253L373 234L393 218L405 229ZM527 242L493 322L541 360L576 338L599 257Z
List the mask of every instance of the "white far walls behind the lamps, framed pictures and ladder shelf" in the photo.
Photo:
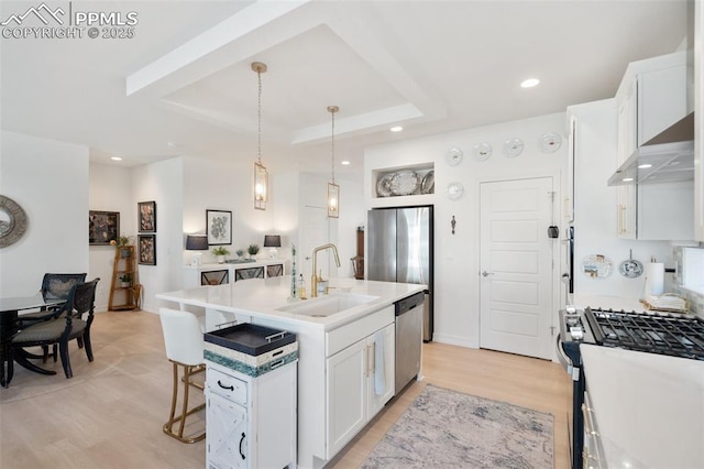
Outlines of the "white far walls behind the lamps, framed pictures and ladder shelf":
M270 173L267 209L256 210L252 201L252 171L251 161L223 162L191 156L133 168L90 165L90 209L119 211L122 234L139 236L136 204L156 201L156 265L139 265L144 310L156 312L162 306L163 302L157 301L155 294L182 288L183 265L194 255L185 250L185 238L188 233L206 232L207 209L232 211L232 244L227 247L231 251L230 258L235 257L237 249L246 250L252 243L262 248L258 255L265 258L264 234L280 234L278 255L290 261L292 242L299 247L300 200L314 185L301 184L298 173ZM320 187L324 189L323 179ZM351 264L344 260L355 254L353 230L363 219L364 208L361 185L353 181L339 183L345 208L343 217L334 220L331 227L336 241L339 226L344 226L349 232L340 238L344 243L340 246L343 264L337 274L352 276ZM324 195L321 203L324 204ZM215 262L211 252L202 254L204 262ZM299 252L298 262L309 254ZM113 255L111 247L90 249L91 269L103 279L97 298L103 308L108 304ZM290 262L287 269L289 266Z

